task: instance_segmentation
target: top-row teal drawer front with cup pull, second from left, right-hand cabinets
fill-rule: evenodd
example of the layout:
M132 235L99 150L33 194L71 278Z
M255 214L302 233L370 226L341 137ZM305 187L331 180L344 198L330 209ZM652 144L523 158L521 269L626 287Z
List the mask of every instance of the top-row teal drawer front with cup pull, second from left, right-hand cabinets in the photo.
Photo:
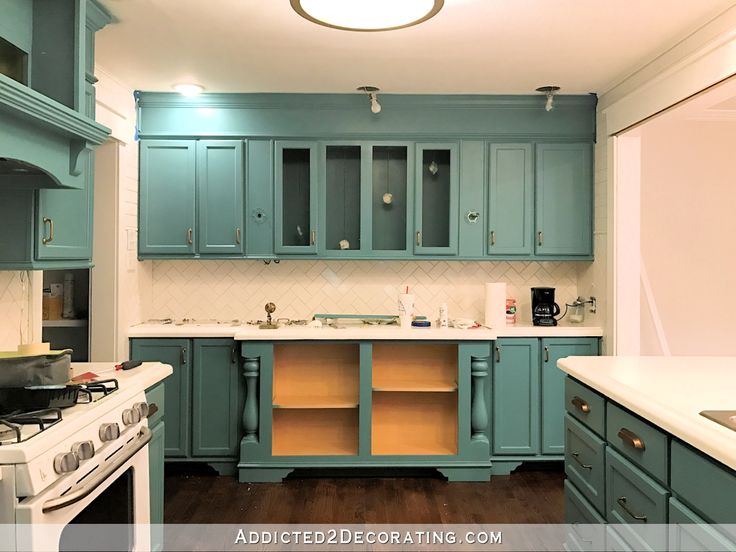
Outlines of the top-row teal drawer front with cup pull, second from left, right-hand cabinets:
M606 440L626 458L667 481L667 435L613 403L606 404Z

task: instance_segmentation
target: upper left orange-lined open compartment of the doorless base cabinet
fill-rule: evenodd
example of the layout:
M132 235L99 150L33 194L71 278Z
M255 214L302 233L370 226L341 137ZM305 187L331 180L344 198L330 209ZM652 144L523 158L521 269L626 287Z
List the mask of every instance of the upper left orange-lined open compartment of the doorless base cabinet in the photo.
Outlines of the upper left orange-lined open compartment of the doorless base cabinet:
M358 345L274 346L274 408L353 408L359 397Z

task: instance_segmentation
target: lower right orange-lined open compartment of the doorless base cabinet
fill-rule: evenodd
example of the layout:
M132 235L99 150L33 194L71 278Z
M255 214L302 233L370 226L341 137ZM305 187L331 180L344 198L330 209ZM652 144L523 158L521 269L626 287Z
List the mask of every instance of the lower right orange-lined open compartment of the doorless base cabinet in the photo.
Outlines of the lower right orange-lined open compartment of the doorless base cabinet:
M373 455L456 455L457 393L373 393Z

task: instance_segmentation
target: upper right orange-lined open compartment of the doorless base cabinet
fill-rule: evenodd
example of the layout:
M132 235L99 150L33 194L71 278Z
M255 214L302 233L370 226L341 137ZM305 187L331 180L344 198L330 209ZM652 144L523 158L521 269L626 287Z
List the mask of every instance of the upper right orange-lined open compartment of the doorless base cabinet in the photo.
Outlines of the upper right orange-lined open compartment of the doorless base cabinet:
M457 354L457 345L376 343L373 390L456 391Z

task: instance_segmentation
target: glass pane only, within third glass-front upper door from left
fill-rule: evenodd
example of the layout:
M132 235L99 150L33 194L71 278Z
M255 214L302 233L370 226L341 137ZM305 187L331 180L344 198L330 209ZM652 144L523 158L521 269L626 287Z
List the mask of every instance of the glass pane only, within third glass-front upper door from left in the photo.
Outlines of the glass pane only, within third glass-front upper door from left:
M406 147L373 148L373 249L406 249Z

